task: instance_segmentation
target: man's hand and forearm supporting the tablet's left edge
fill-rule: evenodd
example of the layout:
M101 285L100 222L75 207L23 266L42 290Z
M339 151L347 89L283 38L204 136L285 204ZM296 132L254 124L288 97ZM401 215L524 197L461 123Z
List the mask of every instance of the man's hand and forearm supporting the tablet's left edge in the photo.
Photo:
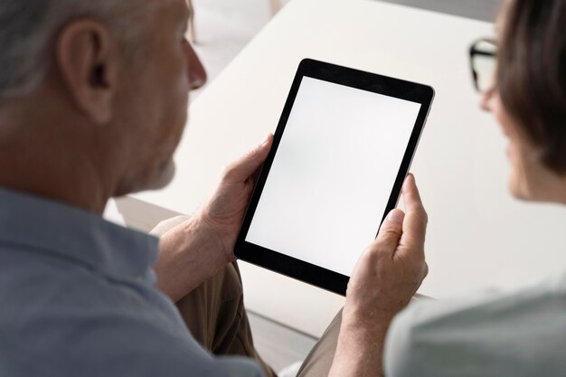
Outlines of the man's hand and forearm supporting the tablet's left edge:
M160 237L157 287L175 302L234 259L233 245L272 142L269 134L226 167L211 197L192 218L177 217L153 231Z

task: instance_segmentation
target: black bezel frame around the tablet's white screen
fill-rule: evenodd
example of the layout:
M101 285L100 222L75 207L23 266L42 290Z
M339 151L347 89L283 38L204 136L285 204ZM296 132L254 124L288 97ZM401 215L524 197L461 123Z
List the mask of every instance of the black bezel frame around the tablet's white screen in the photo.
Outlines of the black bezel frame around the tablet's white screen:
M283 137L288 117L291 113L291 109L293 108L295 99L297 98L297 92L303 77L334 82L336 84L360 90L372 91L374 93L398 99L407 99L421 104L419 116L413 127L409 144L405 150L397 178L395 179L395 184L393 184L382 221L385 215L395 208L399 200L401 186L405 176L409 173L412 156L414 156L415 150L419 144L420 134L429 114L429 108L432 99L434 98L434 90L426 85L393 79L375 73L358 71L312 59L305 59L301 61L298 66L295 80L293 80L287 102L283 108L283 113L279 119L278 127L274 135L273 147L271 148L269 156L261 169L258 182L251 196L250 206L241 225L241 231L234 247L234 255L238 259L245 260L265 269L270 269L291 278L297 278L298 280L304 281L308 284L345 296L348 280L350 279L349 277L308 263L304 260L289 257L288 255L281 254L278 251L263 248L245 240L248 235L248 231L250 231L251 221L258 207L259 198L263 192L271 165L273 164L273 160L277 154L279 142L281 137ZM362 250L359 251L362 252Z

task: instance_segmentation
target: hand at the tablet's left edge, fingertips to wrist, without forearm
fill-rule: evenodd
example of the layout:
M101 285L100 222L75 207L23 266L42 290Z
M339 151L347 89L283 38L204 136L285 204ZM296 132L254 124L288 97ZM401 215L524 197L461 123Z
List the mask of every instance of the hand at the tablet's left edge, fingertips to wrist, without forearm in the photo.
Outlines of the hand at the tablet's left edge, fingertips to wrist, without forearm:
M227 261L234 259L234 243L250 203L259 170L269 155L272 144L273 136L269 134L259 146L226 166L212 195L199 212L203 228L209 237L218 243Z

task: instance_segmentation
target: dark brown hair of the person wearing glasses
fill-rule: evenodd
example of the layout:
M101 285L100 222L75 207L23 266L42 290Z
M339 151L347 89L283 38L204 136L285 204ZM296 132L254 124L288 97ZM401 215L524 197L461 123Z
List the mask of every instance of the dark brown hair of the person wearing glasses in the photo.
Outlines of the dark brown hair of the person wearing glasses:
M505 109L542 163L566 174L566 0L511 0L498 53Z

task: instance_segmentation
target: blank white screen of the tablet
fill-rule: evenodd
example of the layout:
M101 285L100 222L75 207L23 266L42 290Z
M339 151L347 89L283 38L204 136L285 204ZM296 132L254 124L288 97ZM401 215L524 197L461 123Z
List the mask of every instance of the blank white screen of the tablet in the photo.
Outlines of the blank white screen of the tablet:
M350 276L375 238L420 106L304 77L246 240Z

